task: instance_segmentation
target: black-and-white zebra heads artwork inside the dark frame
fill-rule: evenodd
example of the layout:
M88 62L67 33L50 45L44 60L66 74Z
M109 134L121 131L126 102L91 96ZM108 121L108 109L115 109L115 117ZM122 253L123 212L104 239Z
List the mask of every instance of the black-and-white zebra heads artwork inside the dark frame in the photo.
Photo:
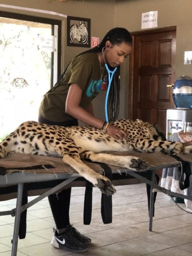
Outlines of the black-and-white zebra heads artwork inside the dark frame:
M75 40L82 44L88 43L86 22L79 21L78 26L76 23L70 26L70 43L73 43Z

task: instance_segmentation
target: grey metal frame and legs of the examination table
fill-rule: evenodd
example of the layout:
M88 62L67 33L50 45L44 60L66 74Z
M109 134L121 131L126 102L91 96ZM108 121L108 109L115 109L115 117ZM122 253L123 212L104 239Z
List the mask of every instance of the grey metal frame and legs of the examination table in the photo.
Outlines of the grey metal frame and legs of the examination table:
M165 165L164 165L165 166ZM127 169L127 173L134 178L137 178L140 183L146 183L151 186L150 189L150 206L149 206L149 231L152 231L152 217L153 217L153 207L154 207L154 192L160 191L165 194L168 194L170 196L178 196L181 198L186 198L189 200L192 200L191 196L183 195L175 192L171 192L170 190L167 190L165 188L160 187L156 184L156 178L155 178L155 170L159 169L159 167L164 166L150 166L148 170L151 170L151 180L147 179L146 177L143 177L139 171L132 171ZM171 166L180 166L179 163L176 164L167 164L166 167ZM119 174L119 168L116 170L112 169L112 173L118 173ZM19 183L16 182L18 180L19 175ZM10 211L1 211L0 215L8 215L11 214L12 216L15 216L14 220L14 230L13 230L13 239L12 239L12 250L11 250L11 256L16 256L17 253L17 243L18 243L18 232L19 232L19 223L20 223L20 214L23 210L27 209L28 207L32 206L36 202L40 201L44 197L48 196L51 193L55 193L57 190L64 188L66 185L68 186L72 181L75 181L76 178L80 177L78 173L36 173L33 172L12 172L9 174L9 180L7 183L7 177L6 175L3 175L0 177L0 186L3 185L17 185L17 199L16 199L16 208L10 210ZM123 178L126 178L124 176ZM56 179L65 179L64 181L61 181L58 185L48 188L48 190L41 195L37 196L35 199L31 200L30 202L26 203L25 205L21 205L22 202L22 193L23 193L23 184L24 183L32 183L32 182L39 182L39 181L52 181ZM116 184L117 185L117 184ZM71 185L72 186L72 185ZM46 187L45 187L46 188Z

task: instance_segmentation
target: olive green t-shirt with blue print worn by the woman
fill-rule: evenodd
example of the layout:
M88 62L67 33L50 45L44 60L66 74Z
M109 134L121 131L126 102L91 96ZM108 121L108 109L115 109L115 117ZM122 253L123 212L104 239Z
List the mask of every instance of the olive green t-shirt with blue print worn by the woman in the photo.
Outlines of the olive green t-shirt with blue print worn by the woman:
M64 77L44 95L39 107L39 115L55 122L72 119L73 117L65 112L66 96L70 84L77 83L80 86L82 89L80 106L86 108L100 91L102 85L100 78L97 53L85 53L74 57Z

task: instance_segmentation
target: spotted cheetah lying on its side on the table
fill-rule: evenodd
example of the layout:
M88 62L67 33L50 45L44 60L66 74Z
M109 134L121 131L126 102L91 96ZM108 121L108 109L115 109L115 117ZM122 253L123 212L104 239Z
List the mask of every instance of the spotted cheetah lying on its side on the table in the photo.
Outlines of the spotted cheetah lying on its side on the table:
M105 130L90 125L64 127L25 121L0 142L0 158L9 153L62 157L63 163L71 166L102 193L113 194L116 190L112 182L86 165L83 160L141 171L146 170L148 164L140 157L115 155L106 151L163 151L169 154L192 152L192 146L184 146L178 141L162 140L157 129L148 122L120 119L111 121L110 124L124 130L126 137L117 139L108 135Z

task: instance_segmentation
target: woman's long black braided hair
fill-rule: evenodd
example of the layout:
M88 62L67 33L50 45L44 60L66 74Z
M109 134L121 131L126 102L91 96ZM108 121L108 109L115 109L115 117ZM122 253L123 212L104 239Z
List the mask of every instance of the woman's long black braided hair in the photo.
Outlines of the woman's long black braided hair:
M102 49L103 49L103 47L105 47L105 42L107 40L109 40L111 42L111 44L113 44L113 45L120 44L121 42L125 42L129 45L132 44L132 38L131 38L131 34L129 33L129 31L127 31L123 27L115 27L115 28L110 29L105 34L105 36L103 37L103 39L97 46L95 46L91 49L88 49L86 51L83 51L80 54L78 54L77 56L80 56L84 53L90 53L90 52L102 52ZM69 64L70 64L70 62L69 62ZM61 74L58 82L55 85L57 85L59 83L59 81L61 79L63 79L65 72L68 68L68 65L66 66L64 72ZM109 66L109 69L113 69L113 68ZM119 77L120 77L120 66L117 66L117 70L114 73L114 76L112 78L111 87L110 87L109 94L108 94L107 111L108 111L109 121L115 120L119 113L119 91L120 91Z

